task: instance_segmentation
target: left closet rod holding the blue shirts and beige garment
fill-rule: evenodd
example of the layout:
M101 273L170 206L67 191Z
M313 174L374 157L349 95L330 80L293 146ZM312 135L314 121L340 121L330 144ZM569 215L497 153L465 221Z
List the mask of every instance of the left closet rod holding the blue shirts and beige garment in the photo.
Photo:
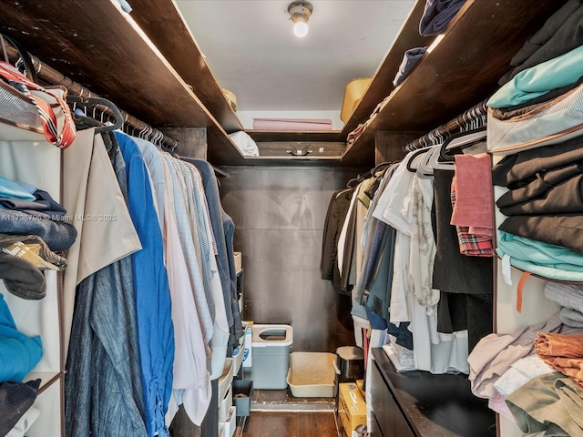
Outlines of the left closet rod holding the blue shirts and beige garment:
M6 54L8 55L10 62L15 64L15 62L20 58L20 54L15 46L12 45L10 41L7 39L4 40ZM42 78L46 83L50 85L59 85L65 86L68 94L73 96L80 96L84 98L88 97L99 97L97 94L92 93L89 91L85 86L77 84L67 76L62 75L56 69L47 66L43 63L40 59L36 56L29 54L30 59L35 66L36 76ZM114 113L105 106L98 105L98 110L107 114L108 116L114 117ZM126 126L126 130L128 127L132 129L132 131L137 132L144 132L148 135L149 139L156 138L156 143L161 145L162 147L168 149L174 149L179 146L179 142L173 138L170 138L160 132L158 129L150 127L148 124L144 123L143 121L139 120L136 117L130 116L126 111L119 109L119 112L124 120L124 126Z

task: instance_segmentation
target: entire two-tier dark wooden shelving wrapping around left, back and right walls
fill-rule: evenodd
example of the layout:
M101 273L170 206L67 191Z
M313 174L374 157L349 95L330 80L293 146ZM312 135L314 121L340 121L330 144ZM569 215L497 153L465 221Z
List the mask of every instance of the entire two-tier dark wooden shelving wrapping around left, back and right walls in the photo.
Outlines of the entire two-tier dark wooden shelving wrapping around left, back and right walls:
M377 132L427 132L483 101L527 37L561 0L467 0L445 36L419 36L424 0L417 0L400 34L377 68L371 85L342 131L261 131L248 134L269 143L330 143L332 153L245 158L227 132L240 122L204 61L171 0L136 0L131 14L117 0L23 2L7 0L0 32L47 65L109 98L153 127L206 127L212 164L338 165L371 167ZM404 52L433 44L404 82L392 81ZM190 88L192 86L193 89ZM340 147L384 97L386 105L350 147ZM282 151L283 155L285 150ZM293 162L293 164L291 164Z

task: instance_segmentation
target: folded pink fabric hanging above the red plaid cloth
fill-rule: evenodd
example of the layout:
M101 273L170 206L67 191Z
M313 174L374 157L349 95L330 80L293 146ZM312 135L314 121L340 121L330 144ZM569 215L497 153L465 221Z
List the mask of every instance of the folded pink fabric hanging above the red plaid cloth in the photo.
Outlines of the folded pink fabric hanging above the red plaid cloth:
M455 155L456 201L450 223L493 229L494 195L489 155Z

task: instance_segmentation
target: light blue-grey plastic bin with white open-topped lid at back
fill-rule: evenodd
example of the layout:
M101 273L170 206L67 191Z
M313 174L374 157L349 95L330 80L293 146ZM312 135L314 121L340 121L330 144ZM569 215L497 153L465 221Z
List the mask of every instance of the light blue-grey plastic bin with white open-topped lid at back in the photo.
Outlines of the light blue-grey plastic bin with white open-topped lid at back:
M293 331L290 325L253 325L251 380L253 388L283 390L290 367Z

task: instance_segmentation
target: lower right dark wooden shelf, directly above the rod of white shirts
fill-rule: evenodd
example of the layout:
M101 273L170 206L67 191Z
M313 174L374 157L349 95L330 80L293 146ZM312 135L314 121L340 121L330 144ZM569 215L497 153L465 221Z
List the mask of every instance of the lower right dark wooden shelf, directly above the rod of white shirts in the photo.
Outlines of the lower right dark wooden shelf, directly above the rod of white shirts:
M424 1L419 0L414 11L420 3ZM346 149L343 160L373 156L377 131L428 131L486 99L496 90L497 80L509 69L510 59L528 36L563 3L467 0L445 35L435 39L409 76L394 88L361 137ZM414 15L405 28L415 25ZM411 30L405 28L402 34L408 35ZM390 52L395 49L396 45ZM387 55L385 62L390 57Z

